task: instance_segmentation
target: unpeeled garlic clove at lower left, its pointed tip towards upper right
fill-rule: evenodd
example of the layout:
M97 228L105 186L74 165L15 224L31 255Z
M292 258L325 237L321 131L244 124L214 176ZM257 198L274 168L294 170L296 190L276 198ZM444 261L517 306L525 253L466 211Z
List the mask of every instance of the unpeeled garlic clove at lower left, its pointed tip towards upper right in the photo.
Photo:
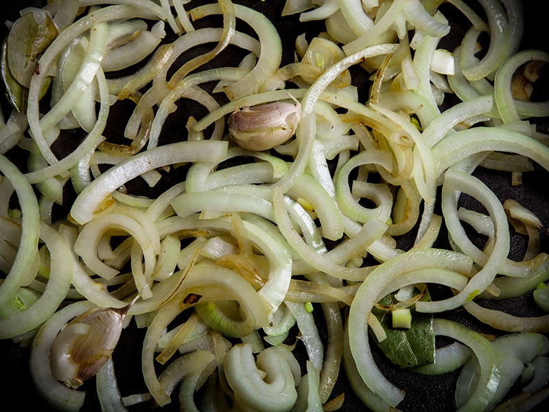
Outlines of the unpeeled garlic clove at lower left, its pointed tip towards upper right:
M51 345L54 377L76 389L95 376L115 350L127 310L96 308L68 323Z

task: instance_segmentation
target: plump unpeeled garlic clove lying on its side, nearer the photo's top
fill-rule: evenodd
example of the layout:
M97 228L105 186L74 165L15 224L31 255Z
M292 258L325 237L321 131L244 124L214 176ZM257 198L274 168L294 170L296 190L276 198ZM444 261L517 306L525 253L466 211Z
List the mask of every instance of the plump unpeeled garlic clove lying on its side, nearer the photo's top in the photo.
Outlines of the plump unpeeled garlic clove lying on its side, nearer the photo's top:
M242 148L269 150L290 139L301 122L301 104L272 102L237 109L229 117L229 133Z

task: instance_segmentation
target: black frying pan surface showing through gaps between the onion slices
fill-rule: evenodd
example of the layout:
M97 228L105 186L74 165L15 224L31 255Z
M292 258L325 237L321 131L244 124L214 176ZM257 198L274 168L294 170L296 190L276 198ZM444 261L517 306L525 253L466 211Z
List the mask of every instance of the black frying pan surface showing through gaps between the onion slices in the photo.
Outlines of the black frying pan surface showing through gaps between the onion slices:
M234 0L235 3L241 3L249 5L255 8L259 12L264 13L268 18L277 26L279 33L281 34L281 40L283 42L283 64L292 62L294 59L294 41L297 36L303 32L307 33L307 38L315 36L319 32L324 30L323 23L308 22L299 23L299 16L297 14L293 16L281 17L281 10L284 5L283 0ZM19 0L19 1L3 1L0 5L0 21L11 20L14 21L18 16L18 10L29 5L42 5L42 1L37 0ZM194 2L200 3L200 2ZM469 2L471 3L471 2ZM521 43L521 49L533 48L533 49L549 49L548 42L548 28L546 23L546 15L539 10L541 8L540 2L524 1L524 36ZM452 50L455 45L460 43L461 36L463 36L464 30L468 27L465 26L463 18L457 16L456 13L451 12L451 8L445 8L445 5L441 5L441 10L447 17L452 27L450 34L443 39L441 47ZM1 25L0 36L3 38L7 34L7 29L4 25ZM226 57L225 60L228 64L234 65L231 56ZM223 60L220 61L222 64ZM368 93L369 80L368 73L364 73L361 70L353 69L353 84L358 87L359 93L362 96L366 96ZM549 73L546 71L546 78L540 80L540 84L537 85L535 90L535 98L537 100L546 100L549 96L549 87L547 76ZM2 93L3 94L3 93ZM364 101L365 99L362 99ZM8 104L5 100L2 102L2 108L5 114ZM190 107L189 110L195 110ZM198 113L200 109L197 108ZM124 117L122 117L124 118ZM127 117L126 117L127 118ZM165 132L163 135L165 139L169 139L170 133L176 128L183 127L187 117L183 117L178 121L177 116L170 117L170 121L165 125ZM183 122L183 123L181 123ZM548 133L549 119L537 119L538 130ZM121 123L111 122L108 124L108 130L113 133L115 130L120 130L123 127ZM106 131L108 133L108 131ZM63 150L69 150L69 146L66 148L60 144L60 152ZM16 163L23 163L24 159L14 159ZM523 184L519 187L512 187L510 184L510 176L508 174L502 174L499 172L492 172L490 170L484 170L479 168L476 170L475 175L480 177L482 181L487 183L498 194L500 199L514 198L526 207L530 208L543 223L541 229L541 251L549 253L548 247L548 228L549 228L549 216L547 214L547 207L549 205L549 195L546 189L546 184L549 181L549 172L539 168L536 165L536 169L533 172L528 172L523 176ZM168 183L169 184L169 183ZM146 188L133 187L133 190L139 194L145 194ZM154 195L154 194L153 194ZM477 205L474 203L467 203L467 199L462 199L463 205L469 208L476 209ZM63 211L60 211L62 213ZM519 258L524 253L525 242L522 236L517 235L511 231L512 237L512 249L510 256L513 258ZM399 244L406 246L412 242L410 236L399 238ZM490 308L497 308L506 312L518 315L518 316L539 316L543 314L539 308L533 303L533 297L531 293L527 293L521 297L514 299L505 299L503 301L478 301L483 306ZM318 311L316 311L318 312ZM487 325L478 322L471 317L465 311L452 311L443 314L443 317L452 319L467 325L469 328L478 330L479 332L498 335L500 331L495 330ZM321 336L325 333L322 327L322 319L318 319L318 325ZM140 353L141 343L143 341L144 330L135 327L135 323L130 323L122 334L121 340L113 354L115 361L115 370L117 373L117 382L119 389L123 396L131 393L140 393L146 391L145 384L141 378L141 364ZM549 334L548 334L549 336ZM437 345L443 345L447 343L444 339L437 338ZM390 364L384 355L381 354L373 346L375 361L384 374L395 382L396 385L406 390L406 398L401 404L399 409L408 412L430 412L430 411L452 411L455 409L454 405L454 390L456 386L456 380L459 373L458 371L449 372L447 374L439 376L424 376L421 374L414 374L410 371L402 370L395 365ZM298 352L301 350L301 357L303 357L303 347L297 348ZM49 411L47 405L40 399L29 374L29 353L27 348L21 347L18 344L12 343L10 340L0 341L0 400L5 405L13 405L16 409L21 411ZM303 357L304 358L304 357ZM302 359L303 360L303 359ZM86 390L86 402L82 411L99 411L100 404L95 394L95 382L93 378L84 383L82 389ZM519 388L513 388L511 393L517 393ZM333 396L337 396L340 393L345 394L344 406L342 411L368 411L364 404L354 395L352 389L349 387L349 382L344 375L343 370L340 372L338 382L334 387ZM510 393L510 394L511 394ZM138 404L130 407L130 411L149 411L151 409L150 402L144 404ZM178 402L172 402L167 404L163 411L178 411ZM544 410L543 406L537 407L535 411Z

